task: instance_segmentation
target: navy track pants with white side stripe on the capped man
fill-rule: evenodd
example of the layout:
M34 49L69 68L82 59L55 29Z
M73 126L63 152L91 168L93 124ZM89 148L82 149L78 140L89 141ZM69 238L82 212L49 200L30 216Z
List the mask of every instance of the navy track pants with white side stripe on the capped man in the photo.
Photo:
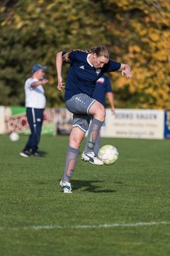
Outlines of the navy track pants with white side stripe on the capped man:
M25 148L23 149L24 151L32 149L32 152L35 153L38 150L43 122L43 111L44 109L35 109L32 107L27 107L26 109L31 134Z

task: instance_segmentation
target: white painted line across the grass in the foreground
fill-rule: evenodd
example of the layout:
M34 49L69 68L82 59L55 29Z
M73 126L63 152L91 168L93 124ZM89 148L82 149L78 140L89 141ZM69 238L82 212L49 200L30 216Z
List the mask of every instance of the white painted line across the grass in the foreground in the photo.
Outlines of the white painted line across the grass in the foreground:
M33 225L28 227L18 227L18 228L7 228L0 227L0 231L19 231L19 230L52 230L52 229L86 229L86 228L116 228L116 227L138 227L138 226L152 226L152 225L169 225L169 221L160 222L140 222L140 223L110 223L110 224L100 224L100 225Z

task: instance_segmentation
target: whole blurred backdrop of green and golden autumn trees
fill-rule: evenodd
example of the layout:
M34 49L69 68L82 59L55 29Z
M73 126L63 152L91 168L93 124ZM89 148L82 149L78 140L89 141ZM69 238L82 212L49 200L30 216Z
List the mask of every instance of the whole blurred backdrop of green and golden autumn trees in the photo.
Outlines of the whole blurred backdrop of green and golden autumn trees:
M23 85L34 63L48 65L47 105L64 104L57 51L106 45L113 59L133 67L128 82L111 75L116 107L170 108L169 20L164 0L2 1L0 105L24 104Z

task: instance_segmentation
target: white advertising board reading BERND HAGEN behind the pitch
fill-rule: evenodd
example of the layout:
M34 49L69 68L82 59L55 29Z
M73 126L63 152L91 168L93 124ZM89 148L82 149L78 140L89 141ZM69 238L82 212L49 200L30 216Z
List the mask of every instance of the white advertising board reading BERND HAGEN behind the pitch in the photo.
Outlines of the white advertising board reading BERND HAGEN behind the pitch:
M164 139L164 110L106 109L102 137Z

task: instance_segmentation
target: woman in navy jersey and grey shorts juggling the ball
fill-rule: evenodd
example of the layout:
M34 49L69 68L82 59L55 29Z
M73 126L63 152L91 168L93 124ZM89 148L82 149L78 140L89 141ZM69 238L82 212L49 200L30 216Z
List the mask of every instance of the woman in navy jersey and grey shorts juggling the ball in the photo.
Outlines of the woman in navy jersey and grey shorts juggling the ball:
M92 98L96 80L101 78L103 73L122 71L127 78L132 78L130 65L110 60L110 54L106 46L96 46L90 50L76 49L69 52L57 53L57 79L58 90L62 91L62 63L70 64L67 73L64 100L67 109L73 113L72 132L69 135L69 148L65 160L64 176L60 186L64 193L72 193L70 178L74 172L79 146L89 129L86 138L86 146L82 158L91 164L103 165L103 162L94 154L94 146L105 119L105 108L100 102ZM89 122L93 120L89 127Z

